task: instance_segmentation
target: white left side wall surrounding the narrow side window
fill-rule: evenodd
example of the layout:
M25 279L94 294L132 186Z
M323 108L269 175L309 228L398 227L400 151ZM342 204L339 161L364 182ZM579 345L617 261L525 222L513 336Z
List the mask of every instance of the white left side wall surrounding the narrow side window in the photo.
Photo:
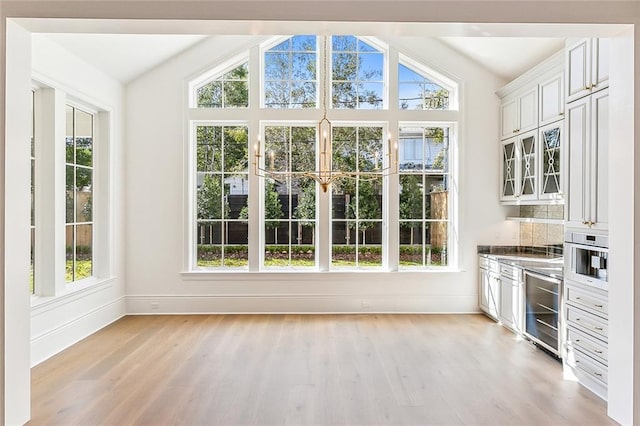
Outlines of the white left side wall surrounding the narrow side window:
M111 251L107 253L113 265L111 271L105 274L105 268L101 268L99 283L86 289L55 298L33 300L31 365L36 365L124 315L124 203L121 201L124 176L124 88L119 82L40 34L32 35L32 75L34 80L60 89L68 96L98 110L110 111L111 146L106 152L100 151L100 155L107 154L112 158L109 188L113 192L111 199L107 200L109 207L106 209L113 216L109 237ZM96 169L96 173L100 172ZM25 217L29 217L28 210ZM97 232L96 229L95 233ZM94 253L98 250L98 247L94 247Z

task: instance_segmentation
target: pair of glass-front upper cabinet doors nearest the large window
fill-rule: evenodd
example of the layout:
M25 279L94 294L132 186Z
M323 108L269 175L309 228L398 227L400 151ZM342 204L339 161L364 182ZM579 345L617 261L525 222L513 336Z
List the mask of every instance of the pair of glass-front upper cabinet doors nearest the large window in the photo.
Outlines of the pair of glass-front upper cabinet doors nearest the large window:
M502 142L500 201L538 198L538 132L531 131Z

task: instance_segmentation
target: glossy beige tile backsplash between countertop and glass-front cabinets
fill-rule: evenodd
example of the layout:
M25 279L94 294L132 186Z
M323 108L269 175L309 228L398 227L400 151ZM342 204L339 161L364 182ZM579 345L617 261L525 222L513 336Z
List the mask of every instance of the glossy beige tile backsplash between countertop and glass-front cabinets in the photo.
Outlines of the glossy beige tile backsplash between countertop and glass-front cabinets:
M562 219L564 207L550 206L520 206L520 217L536 219ZM520 223L521 246L548 246L562 244L564 240L564 226L550 223Z

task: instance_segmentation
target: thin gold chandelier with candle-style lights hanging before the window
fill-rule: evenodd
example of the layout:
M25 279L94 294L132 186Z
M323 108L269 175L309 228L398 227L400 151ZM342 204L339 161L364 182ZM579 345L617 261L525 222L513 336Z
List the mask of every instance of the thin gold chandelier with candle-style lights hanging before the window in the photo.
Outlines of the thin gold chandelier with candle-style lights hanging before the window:
M254 153L255 158L253 161L254 173L263 178L270 178L276 181L286 181L290 178L311 178L318 182L323 192L327 192L329 186L333 182L338 179L368 179L373 180L379 178L381 176L389 176L392 174L398 173L398 143L394 143L392 146L391 137L388 139L388 147L387 147L387 165L382 165L382 167L378 166L379 156L380 154L376 151L374 158L374 167L371 171L341 171L341 170L333 170L333 162L332 162L332 137L333 137L333 126L331 121L327 118L327 93L329 91L329 86L327 84L327 76L329 74L329 67L327 61L327 39L329 36L324 36L324 46L323 46L323 93L322 93L322 119L318 122L318 133L317 135L322 137L321 140L321 151L320 158L318 161L318 170L309 170L309 171L278 171L274 170L274 161L275 161L275 153L271 151L269 153L270 160L270 168L267 169L265 167L260 166L260 158L263 155L260 153L260 139L258 139L258 143L254 145Z

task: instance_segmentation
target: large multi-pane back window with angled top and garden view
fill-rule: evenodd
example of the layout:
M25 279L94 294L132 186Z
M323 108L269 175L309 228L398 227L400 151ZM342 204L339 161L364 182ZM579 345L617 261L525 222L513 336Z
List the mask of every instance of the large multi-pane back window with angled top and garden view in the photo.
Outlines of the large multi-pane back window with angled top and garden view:
M185 270L455 268L459 89L428 62L278 36L188 82Z

